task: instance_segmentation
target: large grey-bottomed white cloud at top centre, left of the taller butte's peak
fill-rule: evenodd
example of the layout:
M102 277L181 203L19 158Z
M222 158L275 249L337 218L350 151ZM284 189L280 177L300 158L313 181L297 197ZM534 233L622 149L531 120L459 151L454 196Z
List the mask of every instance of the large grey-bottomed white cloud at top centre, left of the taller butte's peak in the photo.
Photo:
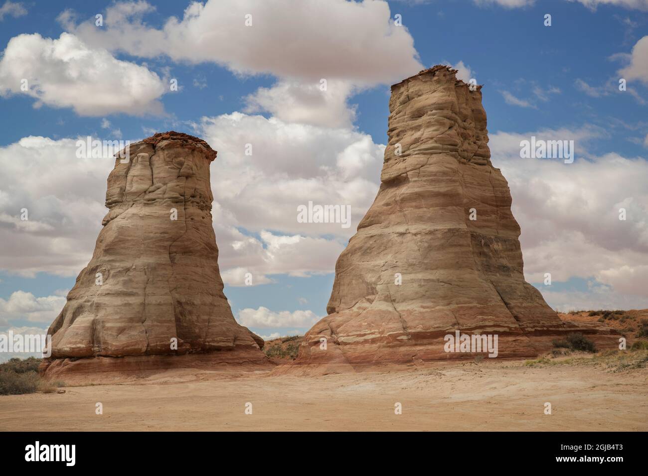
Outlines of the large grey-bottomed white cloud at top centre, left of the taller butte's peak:
M162 28L146 24L154 10L145 1L119 2L106 9L102 28L75 24L71 12L60 21L93 47L272 74L277 83L249 95L248 111L317 126L349 126L349 96L422 69L410 32L395 25L385 1L208 0L190 3Z

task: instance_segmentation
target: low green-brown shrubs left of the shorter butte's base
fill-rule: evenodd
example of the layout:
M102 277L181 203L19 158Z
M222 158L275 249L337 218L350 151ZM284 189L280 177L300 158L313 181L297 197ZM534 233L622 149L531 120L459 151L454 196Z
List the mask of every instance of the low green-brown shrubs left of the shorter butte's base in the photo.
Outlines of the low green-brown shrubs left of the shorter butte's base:
M22 395L26 393L56 392L57 387L64 387L63 382L48 382L38 375L41 359L14 357L0 364L0 395Z

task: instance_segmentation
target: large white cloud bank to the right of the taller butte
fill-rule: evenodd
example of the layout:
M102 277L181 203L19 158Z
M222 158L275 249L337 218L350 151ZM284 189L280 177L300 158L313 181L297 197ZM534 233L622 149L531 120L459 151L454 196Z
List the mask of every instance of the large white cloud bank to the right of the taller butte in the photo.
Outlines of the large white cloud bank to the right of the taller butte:
M619 296L648 297L646 289L638 293L628 284L632 276L641 279L648 265L648 161L592 155L588 142L601 133L590 126L498 132L491 135L492 162L511 188L527 280L541 282L544 273L553 281L595 277ZM520 158L520 141L533 135L574 140L575 161ZM626 220L619 220L620 209Z

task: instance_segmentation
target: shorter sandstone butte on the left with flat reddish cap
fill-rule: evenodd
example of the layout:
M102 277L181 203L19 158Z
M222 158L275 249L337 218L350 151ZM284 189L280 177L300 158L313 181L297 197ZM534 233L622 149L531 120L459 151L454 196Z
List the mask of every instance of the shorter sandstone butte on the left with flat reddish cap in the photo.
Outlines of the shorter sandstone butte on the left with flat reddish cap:
M215 158L207 142L175 131L131 144L129 161L117 157L95 252L49 328L45 376L268 364L263 339L237 324L223 293Z

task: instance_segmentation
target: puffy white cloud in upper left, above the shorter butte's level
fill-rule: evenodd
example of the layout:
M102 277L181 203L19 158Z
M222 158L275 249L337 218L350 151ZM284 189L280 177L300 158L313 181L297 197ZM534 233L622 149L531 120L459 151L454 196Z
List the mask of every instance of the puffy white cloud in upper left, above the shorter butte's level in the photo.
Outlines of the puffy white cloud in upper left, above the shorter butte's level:
M21 34L0 60L0 95L29 95L35 107L73 108L82 116L159 114L165 84L156 73L88 47L73 34L52 40Z

